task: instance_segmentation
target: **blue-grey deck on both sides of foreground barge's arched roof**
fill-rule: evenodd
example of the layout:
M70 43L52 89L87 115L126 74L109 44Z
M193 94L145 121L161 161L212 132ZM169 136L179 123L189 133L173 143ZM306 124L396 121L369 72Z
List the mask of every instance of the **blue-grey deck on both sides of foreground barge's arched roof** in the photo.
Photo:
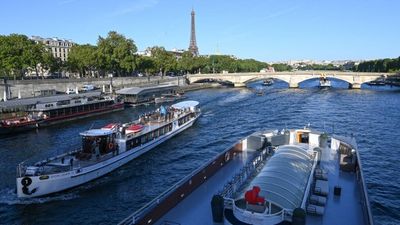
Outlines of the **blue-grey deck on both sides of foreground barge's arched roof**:
M339 170L338 153L327 148L321 155L321 168L328 173L329 193L322 216L307 214L307 224L366 224L361 205L362 194L356 173ZM253 152L254 153L254 152ZM247 153L252 154L252 152ZM251 158L251 157L250 157ZM212 196L222 189L246 163L249 155L238 154L232 163L221 168L206 183L186 197L176 207L160 218L155 224L214 224L211 214ZM341 187L341 195L334 195L334 187Z

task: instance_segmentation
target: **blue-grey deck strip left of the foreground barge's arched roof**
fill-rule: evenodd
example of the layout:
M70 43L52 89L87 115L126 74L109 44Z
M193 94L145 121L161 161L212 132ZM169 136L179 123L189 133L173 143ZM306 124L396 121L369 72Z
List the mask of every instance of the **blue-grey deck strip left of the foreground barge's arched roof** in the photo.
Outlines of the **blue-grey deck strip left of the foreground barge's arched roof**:
M211 199L246 164L255 151L237 154L230 163L222 167L204 184L194 190L176 207L161 217L155 224L213 224Z

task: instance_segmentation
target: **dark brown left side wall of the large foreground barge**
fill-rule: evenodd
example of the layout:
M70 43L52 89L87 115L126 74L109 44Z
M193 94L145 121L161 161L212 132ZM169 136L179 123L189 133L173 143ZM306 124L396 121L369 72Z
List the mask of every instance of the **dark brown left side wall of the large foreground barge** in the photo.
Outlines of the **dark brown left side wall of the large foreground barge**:
M230 146L229 148L227 148L226 150L223 151L223 153L221 154L225 154L226 152L228 152L229 150L231 150L232 148L234 148L236 145L236 143L232 146ZM221 155L216 155L214 156L211 160L209 160L207 163L205 163L204 165L209 165L211 164L213 161L217 160L218 157ZM159 203L161 203L164 199L166 199L171 193L173 193L174 191L176 191L182 184L188 182L194 175L196 175L197 173L199 173L200 171L202 171L204 169L204 167L199 167L197 169L195 169L193 172L191 172L189 175L185 176L183 179L181 179L180 181L178 181L177 183L175 183L173 186L171 186L170 188L168 188L167 190L165 190L164 192L162 192L160 195L158 195L156 198L154 198L152 201L150 201L149 203L147 203L146 205L144 205L142 208L136 210L134 213L132 213L130 216L128 216L127 218L125 218L123 221L121 221L119 224L123 225L123 224L135 224L136 221L140 220L141 218L143 218L148 212L150 212L152 209L154 209Z

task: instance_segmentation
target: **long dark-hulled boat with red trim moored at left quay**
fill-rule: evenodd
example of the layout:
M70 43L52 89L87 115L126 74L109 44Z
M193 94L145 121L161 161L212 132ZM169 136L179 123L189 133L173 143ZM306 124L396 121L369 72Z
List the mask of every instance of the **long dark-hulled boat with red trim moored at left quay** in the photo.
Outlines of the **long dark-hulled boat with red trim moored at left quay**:
M22 132L82 119L89 116L115 112L124 109L124 103L111 96L71 97L68 100L33 105L25 116L0 121L0 134Z

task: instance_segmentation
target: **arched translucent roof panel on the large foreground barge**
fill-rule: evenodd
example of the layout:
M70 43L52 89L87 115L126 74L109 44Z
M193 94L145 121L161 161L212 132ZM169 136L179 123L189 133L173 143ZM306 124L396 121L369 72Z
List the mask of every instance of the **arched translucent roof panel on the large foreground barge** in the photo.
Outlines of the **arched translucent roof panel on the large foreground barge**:
M250 183L259 186L260 196L285 209L300 207L312 170L312 157L297 145L280 146Z

